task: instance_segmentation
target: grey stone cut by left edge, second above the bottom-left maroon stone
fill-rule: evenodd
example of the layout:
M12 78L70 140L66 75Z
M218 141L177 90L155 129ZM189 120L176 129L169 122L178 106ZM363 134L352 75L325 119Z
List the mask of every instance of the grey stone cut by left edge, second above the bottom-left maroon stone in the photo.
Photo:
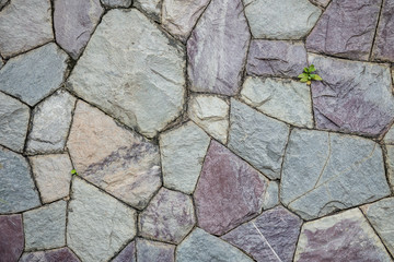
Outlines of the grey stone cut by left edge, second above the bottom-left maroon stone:
M22 152L26 139L30 108L0 92L0 144Z

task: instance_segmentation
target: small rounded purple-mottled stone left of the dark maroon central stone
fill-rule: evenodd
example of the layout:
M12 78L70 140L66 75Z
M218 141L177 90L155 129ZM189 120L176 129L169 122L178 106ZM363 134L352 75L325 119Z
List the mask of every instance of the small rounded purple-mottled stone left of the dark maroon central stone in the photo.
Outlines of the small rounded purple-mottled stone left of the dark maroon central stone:
M165 188L158 192L139 216L142 237L173 243L179 243L195 224L192 198Z

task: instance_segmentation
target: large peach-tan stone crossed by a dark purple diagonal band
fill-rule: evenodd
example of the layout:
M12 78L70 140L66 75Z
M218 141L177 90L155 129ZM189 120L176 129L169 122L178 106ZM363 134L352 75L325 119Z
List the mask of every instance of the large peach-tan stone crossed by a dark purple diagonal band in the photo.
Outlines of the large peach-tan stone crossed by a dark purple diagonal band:
M161 186L158 146L83 102L77 104L67 146L80 176L136 209Z

